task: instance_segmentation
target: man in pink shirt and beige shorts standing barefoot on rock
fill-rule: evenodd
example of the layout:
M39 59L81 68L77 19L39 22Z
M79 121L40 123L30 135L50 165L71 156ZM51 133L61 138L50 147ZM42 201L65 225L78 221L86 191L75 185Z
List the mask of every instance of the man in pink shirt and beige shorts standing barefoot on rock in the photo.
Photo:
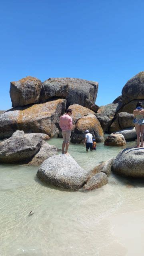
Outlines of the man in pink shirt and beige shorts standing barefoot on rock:
M72 130L72 109L68 108L66 111L66 114L61 116L60 118L60 128L62 129L62 137L64 138L64 141L62 143L62 154L68 154L68 146L70 141L70 135ZM66 146L66 150L64 152L64 148Z

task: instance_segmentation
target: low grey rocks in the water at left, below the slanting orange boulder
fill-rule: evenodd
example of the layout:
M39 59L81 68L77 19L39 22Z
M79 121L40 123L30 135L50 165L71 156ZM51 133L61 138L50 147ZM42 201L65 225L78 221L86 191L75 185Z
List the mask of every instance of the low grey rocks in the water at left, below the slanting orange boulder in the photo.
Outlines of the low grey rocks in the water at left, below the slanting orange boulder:
M44 139L46 134L25 134L17 130L8 139L0 142L0 163L22 163L38 166L50 156L57 154L55 146Z

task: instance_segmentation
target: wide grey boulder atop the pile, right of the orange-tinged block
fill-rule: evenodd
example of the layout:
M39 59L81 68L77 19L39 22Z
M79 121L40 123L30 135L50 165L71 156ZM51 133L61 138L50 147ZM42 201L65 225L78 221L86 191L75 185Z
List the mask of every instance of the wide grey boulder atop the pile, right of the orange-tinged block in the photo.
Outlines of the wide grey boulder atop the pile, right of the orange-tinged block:
M95 103L97 92L98 82L79 78L49 78L43 83L40 101L62 97L67 100L67 107L74 103L85 106L86 99Z

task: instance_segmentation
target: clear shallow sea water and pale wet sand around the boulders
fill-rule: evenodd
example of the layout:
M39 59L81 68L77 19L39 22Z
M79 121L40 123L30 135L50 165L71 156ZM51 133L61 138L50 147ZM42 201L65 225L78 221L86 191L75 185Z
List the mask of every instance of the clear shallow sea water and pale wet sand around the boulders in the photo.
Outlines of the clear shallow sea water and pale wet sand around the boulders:
M62 139L48 143L61 148ZM122 148L70 144L69 153L90 170ZM70 192L40 182L37 170L0 165L0 256L143 256L143 180L111 174L102 188Z

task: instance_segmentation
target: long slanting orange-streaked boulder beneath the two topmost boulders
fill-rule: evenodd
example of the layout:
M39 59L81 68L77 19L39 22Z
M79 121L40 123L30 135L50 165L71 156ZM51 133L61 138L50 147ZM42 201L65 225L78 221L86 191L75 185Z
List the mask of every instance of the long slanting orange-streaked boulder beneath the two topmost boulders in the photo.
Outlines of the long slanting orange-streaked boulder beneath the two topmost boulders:
M26 133L40 132L57 137L58 123L65 108L64 99L12 108L0 115L0 139L12 136L16 130L24 130Z

